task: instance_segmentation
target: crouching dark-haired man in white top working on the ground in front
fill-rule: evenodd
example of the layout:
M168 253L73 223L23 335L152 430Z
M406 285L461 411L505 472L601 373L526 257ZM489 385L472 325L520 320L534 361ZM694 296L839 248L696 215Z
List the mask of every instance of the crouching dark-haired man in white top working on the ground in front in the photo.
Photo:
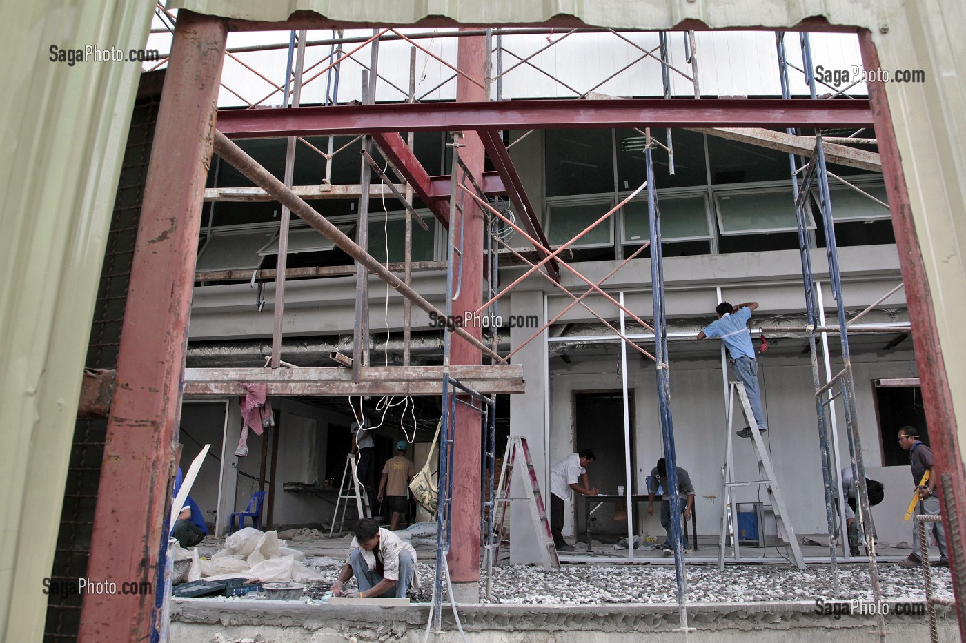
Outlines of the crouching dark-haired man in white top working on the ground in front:
M405 599L411 584L419 587L412 545L381 529L373 518L359 520L354 533L346 564L332 584L332 596L355 596L342 589L353 576L359 584L357 596L362 599Z

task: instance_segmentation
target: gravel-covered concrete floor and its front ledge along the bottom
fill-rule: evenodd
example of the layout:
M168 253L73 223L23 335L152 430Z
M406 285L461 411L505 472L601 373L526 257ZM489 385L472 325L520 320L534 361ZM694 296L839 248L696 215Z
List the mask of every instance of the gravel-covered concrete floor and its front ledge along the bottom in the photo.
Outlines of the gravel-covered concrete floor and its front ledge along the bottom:
M486 580L479 586L480 603L461 604L461 624L472 641L540 641L554 643L604 641L875 641L875 617L867 611L849 613L847 602L871 599L867 564L843 563L838 595L832 592L828 546L805 545L807 558L823 559L804 572L781 560L774 548L764 557L760 549L742 550L741 564L717 566L716 539L699 542L688 553L689 625L679 629L672 558L660 550L635 552L638 564L613 564L608 559L626 556L612 545L594 547L591 555L567 556L559 570L533 566L500 565L494 573L493 594L486 599ZM306 564L334 579L344 560L351 536L292 539L289 546L306 554ZM215 545L215 546L213 546ZM213 552L217 542L206 540L202 550ZM596 549L600 548L599 551ZM435 549L416 547L423 600L428 600L434 576ZM579 552L575 552L579 553ZM783 553L783 551L782 551ZM908 550L886 549L880 560L898 560ZM756 557L752 559L751 557ZM578 560L582 559L582 560ZM756 563L754 564L753 560ZM626 562L626 560L622 561ZM647 563L641 565L640 563ZM712 564L715 563L715 564ZM885 617L887 640L926 640L921 610L923 578L920 569L907 570L883 562L880 566L883 597L890 613ZM937 595L952 597L952 580L946 569L934 569ZM316 595L318 595L316 593ZM819 604L817 601L823 601ZM824 613L837 605L838 614ZM861 610L860 610L861 611ZM326 640L419 641L429 618L427 604L408 607L329 605L305 597L302 601L246 599L178 599L172 601L171 641L204 643L318 643ZM939 608L939 640L956 640L955 614ZM452 610L443 610L438 641L459 641Z

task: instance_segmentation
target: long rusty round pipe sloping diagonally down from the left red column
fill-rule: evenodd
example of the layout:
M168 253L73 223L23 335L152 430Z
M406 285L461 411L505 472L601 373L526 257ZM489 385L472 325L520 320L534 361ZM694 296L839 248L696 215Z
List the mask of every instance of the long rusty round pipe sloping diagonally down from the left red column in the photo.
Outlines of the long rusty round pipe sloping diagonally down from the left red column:
M432 313L445 319L445 313L440 311L439 308L426 301L422 295L416 293L412 288L404 284L399 277L386 269L372 255L362 250L362 248L355 244L354 240L346 237L341 230L329 223L326 217L305 203L292 190L287 189L282 182L278 181L268 170L259 165L258 161L248 154L245 154L239 146L232 143L227 136L217 130L214 132L214 152L241 172L242 175L259 187L264 188L272 198L295 212L299 218L319 231L323 237L335 243L335 245L355 259L360 265L365 266L370 272L382 279L390 288L402 294L427 313ZM469 342L474 348L482 350L498 362L504 361L497 352L470 335L462 327L457 327L453 332Z

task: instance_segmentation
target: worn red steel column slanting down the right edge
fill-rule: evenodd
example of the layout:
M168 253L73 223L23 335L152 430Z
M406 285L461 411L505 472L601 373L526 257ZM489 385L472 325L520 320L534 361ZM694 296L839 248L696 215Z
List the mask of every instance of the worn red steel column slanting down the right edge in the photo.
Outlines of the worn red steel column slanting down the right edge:
M859 34L859 47L866 69L881 69L875 44L867 31ZM946 379L946 363L936 328L935 308L923 263L923 248L912 218L909 191L895 142L892 112L889 109L886 88L881 81L868 83L868 98L872 104L875 136L879 141L879 154L882 157L882 173L886 178L886 193L889 195L889 206L893 214L895 245L898 248L902 282L905 284L906 301L909 305L909 320L913 327L913 345L923 389L929 443L936 461L935 471L940 477L936 486L941 487L943 479L948 477L952 490L952 494L944 493L940 499L943 503L943 521L952 568L952 591L956 604L960 605L957 610L959 635L966 640L966 610L961 607L966 603L966 586L963 580L966 578L966 570L962 569L962 559L957 560L954 555L952 539L953 533L966 534L966 511L963 511L966 507L966 472L963 470L962 452L956 437L952 391ZM950 508L958 510L951 513ZM951 515L956 517L957 524L951 524Z

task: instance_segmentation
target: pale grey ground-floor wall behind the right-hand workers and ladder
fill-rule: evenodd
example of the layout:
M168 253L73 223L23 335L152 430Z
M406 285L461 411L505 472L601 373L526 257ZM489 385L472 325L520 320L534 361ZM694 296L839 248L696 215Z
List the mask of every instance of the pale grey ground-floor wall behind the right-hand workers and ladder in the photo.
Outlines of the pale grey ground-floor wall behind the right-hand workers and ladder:
M840 365L836 364L834 367L840 368ZM902 514L904 505L908 504L911 497L908 492L909 471L907 466L880 466L880 439L871 379L916 377L910 375L910 369L915 373L913 354L911 351L899 351L888 357L877 354L859 355L854 358L854 367L863 455L867 466L874 467L869 470L868 475L886 485L888 498L888 501L873 510L878 535L887 544L908 541L908 523L902 521ZM721 361L672 361L670 373L675 448L679 465L689 471L695 485L697 531L700 535L717 535L721 519L721 468L725 462L727 411ZM733 378L730 369L728 377ZM807 355L801 358L760 358L759 378L762 381L766 422L771 428L766 442L771 448L772 463L788 505L792 526L800 534L825 533L825 501L809 358ZM571 365L564 364L559 359L553 360L550 371L551 462L563 458L574 448L595 448L594 444L572 443L572 394L575 391L619 389L620 385L617 359L588 360ZM645 476L650 473L658 458L663 456L653 365L646 364L637 357L629 358L628 388L633 390L636 409L633 423L637 427L634 436L637 466L632 476L633 484L636 492L645 493ZM525 396L515 396L515 399L522 397ZM740 420L736 418L735 429L745 426L738 422ZM844 431L845 424L839 405L838 434L842 466L848 464L848 444ZM734 448L735 479L755 479L756 466L749 442L735 438ZM595 462L588 468L590 483L598 486L595 480L606 478L605 471L623 471L623 468L623 462ZM614 492L616 489L603 490ZM739 490L736 498L741 502L755 502L759 501L758 495L757 489L746 489ZM767 495L763 491L760 495L767 504ZM582 504L582 498L578 500ZM899 505L903 505L901 511L896 511ZM598 523L610 525L607 520L600 519L601 513L607 514L609 511L605 506L595 515L599 517ZM565 534L573 533L572 519L568 515ZM663 535L664 530L656 517L643 519L643 530L652 536Z

